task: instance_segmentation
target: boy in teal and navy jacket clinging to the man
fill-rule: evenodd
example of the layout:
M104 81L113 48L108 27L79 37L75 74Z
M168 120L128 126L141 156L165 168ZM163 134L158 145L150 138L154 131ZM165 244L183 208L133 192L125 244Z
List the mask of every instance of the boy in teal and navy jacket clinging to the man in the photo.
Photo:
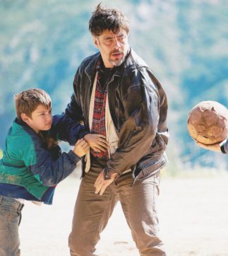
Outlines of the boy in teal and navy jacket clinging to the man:
M51 99L45 91L23 91L15 95L15 103L17 118L0 161L1 256L20 255L23 201L52 204L55 185L73 172L88 152L88 144L99 148L99 134L88 134L85 127L63 115L52 117ZM86 134L88 143L82 139ZM77 143L73 150L61 153L57 140Z

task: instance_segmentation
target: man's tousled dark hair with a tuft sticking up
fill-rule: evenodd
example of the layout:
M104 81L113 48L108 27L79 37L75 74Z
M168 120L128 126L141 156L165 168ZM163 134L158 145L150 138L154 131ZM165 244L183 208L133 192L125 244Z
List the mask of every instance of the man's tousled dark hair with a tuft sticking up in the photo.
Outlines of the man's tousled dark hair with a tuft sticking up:
M99 36L104 30L111 30L113 33L118 33L120 29L129 32L128 18L114 8L104 8L101 3L98 4L89 22L89 29L92 35Z

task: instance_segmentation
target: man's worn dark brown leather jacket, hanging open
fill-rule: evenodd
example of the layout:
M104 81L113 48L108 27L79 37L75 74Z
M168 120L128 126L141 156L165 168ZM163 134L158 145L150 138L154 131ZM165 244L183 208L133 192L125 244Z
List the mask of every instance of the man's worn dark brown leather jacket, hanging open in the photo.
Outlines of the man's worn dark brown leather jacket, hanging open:
M66 115L88 127L92 84L100 52L83 60L73 81ZM156 173L167 163L164 154L167 129L167 96L150 67L131 49L115 68L107 85L109 110L119 135L118 149L105 171L123 173L131 168L135 180Z

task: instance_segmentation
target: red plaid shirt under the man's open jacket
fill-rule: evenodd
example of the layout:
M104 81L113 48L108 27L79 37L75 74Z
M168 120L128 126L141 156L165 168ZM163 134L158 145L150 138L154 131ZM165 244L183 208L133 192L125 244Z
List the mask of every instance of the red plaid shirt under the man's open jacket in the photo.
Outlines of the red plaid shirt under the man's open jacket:
M106 127L105 127L105 105L107 99L107 82L105 85L101 85L100 78L102 76L101 61L97 63L97 83L95 91L95 100L93 107L92 115L92 128L91 134L102 134L106 136ZM96 152L93 149L90 149L92 156L97 158L109 158L109 153L106 150L105 152Z

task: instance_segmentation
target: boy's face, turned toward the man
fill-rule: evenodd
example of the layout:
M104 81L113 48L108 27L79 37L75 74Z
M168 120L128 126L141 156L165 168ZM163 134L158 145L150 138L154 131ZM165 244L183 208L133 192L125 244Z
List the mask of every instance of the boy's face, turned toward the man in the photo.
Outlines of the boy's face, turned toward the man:
M52 109L44 105L38 105L32 112L32 116L28 117L23 113L21 118L28 124L36 133L47 131L52 127Z

